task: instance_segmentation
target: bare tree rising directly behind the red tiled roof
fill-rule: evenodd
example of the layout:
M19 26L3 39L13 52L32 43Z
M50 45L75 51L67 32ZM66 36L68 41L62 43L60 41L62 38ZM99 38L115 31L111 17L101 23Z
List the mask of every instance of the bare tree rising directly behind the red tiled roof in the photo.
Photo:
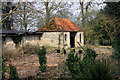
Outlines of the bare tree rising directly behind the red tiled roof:
M53 18L54 15L56 17L62 17L62 18L68 17L68 15L72 15L72 13L69 11L69 8L71 6L68 3L42 2L39 4L41 4L40 6L42 6L42 9L37 10L39 11L38 13L41 14L41 15L39 14L38 17L40 17L41 20L44 20L45 24L47 24ZM39 21L39 23L41 23L41 20Z

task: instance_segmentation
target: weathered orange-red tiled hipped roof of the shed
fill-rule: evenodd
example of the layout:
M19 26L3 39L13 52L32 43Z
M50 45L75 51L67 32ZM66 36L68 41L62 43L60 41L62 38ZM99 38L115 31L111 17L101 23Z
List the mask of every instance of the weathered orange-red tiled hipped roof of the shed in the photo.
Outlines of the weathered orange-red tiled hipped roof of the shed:
M42 26L40 29L37 30L37 32L41 31L70 31L70 32L76 32L76 31L83 31L80 27L78 27L76 24L72 23L67 18L57 18L54 17L47 25Z

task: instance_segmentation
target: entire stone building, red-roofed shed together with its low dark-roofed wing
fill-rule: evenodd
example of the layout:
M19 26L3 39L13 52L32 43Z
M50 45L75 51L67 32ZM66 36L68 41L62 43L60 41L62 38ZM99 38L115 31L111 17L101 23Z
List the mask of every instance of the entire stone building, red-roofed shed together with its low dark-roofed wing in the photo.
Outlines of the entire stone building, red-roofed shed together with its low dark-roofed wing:
M70 48L84 46L84 32L76 24L67 18L54 17L48 24L42 26L36 32L0 30L3 46L16 49L16 41L19 46L26 44L35 46L51 46Z

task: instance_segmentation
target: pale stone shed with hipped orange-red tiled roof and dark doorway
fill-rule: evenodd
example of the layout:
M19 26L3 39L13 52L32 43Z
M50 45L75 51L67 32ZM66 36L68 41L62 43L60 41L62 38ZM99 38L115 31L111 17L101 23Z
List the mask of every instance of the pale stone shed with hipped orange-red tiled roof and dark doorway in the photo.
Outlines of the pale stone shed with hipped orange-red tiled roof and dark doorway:
M48 24L37 32L43 32L40 45L52 47L79 47L84 46L84 32L67 18L54 17Z

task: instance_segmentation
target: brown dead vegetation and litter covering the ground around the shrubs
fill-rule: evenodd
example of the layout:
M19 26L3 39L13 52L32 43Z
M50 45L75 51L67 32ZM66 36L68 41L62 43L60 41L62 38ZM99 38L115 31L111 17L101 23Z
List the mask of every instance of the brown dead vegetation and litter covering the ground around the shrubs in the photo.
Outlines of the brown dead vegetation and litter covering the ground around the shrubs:
M98 54L97 58L107 57L111 59L113 65L117 65L117 61L111 58L112 47L102 47L102 46L91 46ZM29 49L30 50L30 49ZM76 49L78 53L79 49ZM67 50L67 54L70 50ZM39 59L37 54L24 54L21 57L20 53L14 51L3 51L3 54L7 58L6 65L13 64L17 68L17 72L20 78L28 78L30 76L34 78L70 78L69 72L66 70L63 61L62 53L57 53L55 49L47 50L47 72L38 74L39 69ZM8 66L9 67L9 66ZM114 68L116 69L116 68ZM117 69L116 69L117 70ZM116 71L115 70L115 71ZM9 72L6 73L7 78L9 78Z

